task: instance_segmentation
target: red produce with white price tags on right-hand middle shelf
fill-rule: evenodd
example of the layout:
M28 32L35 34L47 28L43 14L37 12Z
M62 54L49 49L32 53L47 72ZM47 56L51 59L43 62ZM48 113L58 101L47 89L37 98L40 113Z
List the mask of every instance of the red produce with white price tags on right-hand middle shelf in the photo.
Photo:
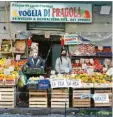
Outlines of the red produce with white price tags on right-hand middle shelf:
M111 64L111 59L97 59L97 58L80 58L75 59L72 62L73 66L73 74L82 74L87 73L87 70L93 69L94 72L101 72L104 73L107 70L108 66Z

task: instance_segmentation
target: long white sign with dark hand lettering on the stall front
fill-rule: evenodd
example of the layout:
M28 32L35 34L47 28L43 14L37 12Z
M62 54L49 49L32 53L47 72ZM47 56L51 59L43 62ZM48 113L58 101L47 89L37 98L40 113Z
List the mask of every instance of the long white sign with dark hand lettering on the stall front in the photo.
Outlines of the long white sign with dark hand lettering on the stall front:
M69 79L51 79L51 88L69 88L69 87L80 87L80 80L69 80Z

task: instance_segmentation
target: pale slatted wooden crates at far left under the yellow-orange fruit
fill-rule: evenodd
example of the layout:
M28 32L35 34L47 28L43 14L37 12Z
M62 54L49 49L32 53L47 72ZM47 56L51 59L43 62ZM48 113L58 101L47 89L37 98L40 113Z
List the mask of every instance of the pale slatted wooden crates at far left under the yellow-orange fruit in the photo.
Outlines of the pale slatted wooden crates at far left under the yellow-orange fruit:
M14 108L16 106L16 88L0 87L0 108Z

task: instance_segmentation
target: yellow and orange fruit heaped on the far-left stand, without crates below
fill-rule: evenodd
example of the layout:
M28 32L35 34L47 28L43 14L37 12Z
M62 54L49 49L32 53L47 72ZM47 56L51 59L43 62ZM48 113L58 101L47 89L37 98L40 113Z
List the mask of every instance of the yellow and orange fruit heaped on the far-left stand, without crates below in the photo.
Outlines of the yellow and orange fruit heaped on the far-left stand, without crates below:
M19 78L19 71L25 63L26 60L16 62L6 58L0 59L0 82L15 81L16 83Z

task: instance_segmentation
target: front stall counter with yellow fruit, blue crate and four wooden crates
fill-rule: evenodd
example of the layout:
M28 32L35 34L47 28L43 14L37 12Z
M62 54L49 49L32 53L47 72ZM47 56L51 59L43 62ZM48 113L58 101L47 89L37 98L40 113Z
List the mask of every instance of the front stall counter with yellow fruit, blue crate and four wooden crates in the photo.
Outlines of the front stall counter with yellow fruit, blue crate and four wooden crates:
M95 73L92 76L86 73L60 74L51 75L46 80L42 77L30 78L27 84L29 107L94 108L112 106L112 77L106 74Z

